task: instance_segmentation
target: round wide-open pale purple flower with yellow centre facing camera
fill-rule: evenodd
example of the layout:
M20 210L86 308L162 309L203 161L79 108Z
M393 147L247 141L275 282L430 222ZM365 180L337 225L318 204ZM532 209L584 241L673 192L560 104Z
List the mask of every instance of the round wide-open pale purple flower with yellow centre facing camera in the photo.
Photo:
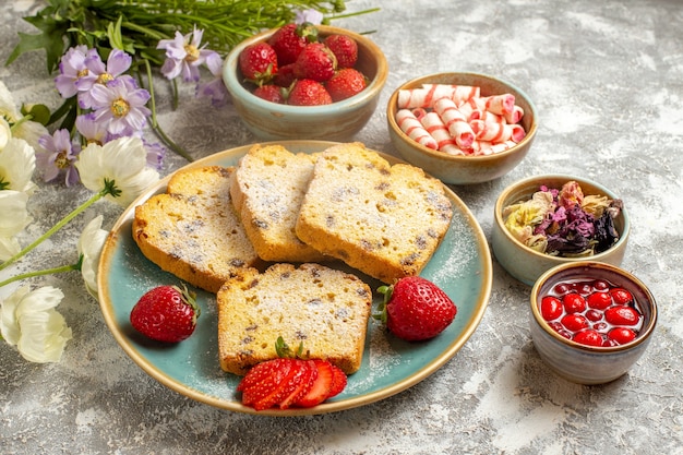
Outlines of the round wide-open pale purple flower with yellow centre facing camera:
M95 120L105 122L107 131L115 135L131 135L142 130L152 113L145 107L149 92L128 79L115 79L107 85L95 84L91 96L97 106Z

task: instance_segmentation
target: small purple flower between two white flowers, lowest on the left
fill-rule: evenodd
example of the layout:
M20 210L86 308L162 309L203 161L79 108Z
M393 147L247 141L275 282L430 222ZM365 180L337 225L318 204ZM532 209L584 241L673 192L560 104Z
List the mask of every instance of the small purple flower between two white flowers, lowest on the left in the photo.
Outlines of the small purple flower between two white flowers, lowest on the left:
M69 130L57 130L52 135L43 135L38 143L45 148L45 152L36 154L36 164L43 171L43 179L46 182L55 180L63 170L67 175L67 187L77 183L79 171L73 165L81 148L77 144L71 143Z

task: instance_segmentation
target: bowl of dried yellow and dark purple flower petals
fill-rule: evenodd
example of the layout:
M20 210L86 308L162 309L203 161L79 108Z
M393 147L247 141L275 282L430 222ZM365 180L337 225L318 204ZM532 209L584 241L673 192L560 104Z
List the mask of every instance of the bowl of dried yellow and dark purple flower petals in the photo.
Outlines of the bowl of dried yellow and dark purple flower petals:
M514 278L532 286L546 271L576 261L621 265L631 224L623 201L591 180L535 176L495 201L491 251Z

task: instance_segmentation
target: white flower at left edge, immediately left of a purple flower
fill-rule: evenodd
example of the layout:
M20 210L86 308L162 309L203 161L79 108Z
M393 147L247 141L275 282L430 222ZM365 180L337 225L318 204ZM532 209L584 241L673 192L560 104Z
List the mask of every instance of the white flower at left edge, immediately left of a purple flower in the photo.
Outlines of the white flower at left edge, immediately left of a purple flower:
M7 189L33 194L36 184L31 180L36 169L36 152L23 139L10 137L0 149L0 182Z

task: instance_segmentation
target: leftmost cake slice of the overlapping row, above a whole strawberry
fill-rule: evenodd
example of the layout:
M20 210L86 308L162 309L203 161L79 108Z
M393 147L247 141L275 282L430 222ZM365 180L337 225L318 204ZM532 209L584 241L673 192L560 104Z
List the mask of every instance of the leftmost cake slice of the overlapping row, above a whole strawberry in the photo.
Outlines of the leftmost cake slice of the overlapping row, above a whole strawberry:
M133 239L161 270L209 292L243 267L259 264L230 200L235 168L176 172L167 192L135 207Z

